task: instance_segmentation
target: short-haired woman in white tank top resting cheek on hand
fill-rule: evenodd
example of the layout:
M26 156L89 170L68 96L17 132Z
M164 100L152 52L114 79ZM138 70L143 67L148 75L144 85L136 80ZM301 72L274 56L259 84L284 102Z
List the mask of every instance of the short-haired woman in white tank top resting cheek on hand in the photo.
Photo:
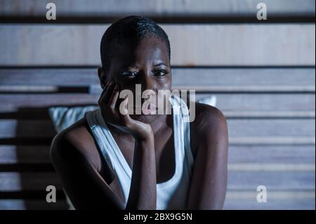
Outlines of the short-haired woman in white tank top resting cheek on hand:
M51 145L53 165L74 207L222 209L228 154L223 114L196 103L189 123L180 119L187 106L176 96L169 98L172 114L154 113L154 103L133 114L133 99L119 98L123 90L139 96L136 84L153 93L171 89L164 30L148 18L129 16L107 29L100 51L100 109L87 112ZM159 100L159 94L141 102L148 98Z

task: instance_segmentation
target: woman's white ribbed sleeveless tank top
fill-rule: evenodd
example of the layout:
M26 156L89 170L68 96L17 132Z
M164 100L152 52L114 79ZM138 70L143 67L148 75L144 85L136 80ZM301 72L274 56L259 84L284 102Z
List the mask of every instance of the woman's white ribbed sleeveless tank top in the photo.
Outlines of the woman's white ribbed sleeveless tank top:
M176 170L173 177L166 182L157 183L157 209L186 209L187 194L193 166L190 147L190 122L188 122L187 105L176 95L169 101L173 112L173 138ZM107 128L100 108L86 112L86 121L96 140L98 150L114 173L111 189L126 206L131 187L132 170Z

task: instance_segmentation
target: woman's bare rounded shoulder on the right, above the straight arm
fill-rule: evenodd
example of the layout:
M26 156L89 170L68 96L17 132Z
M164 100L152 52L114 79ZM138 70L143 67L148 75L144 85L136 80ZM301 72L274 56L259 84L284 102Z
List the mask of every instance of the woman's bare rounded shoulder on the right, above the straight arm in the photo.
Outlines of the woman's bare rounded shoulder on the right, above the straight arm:
M211 105L195 103L195 120L191 126L192 147L211 144L228 138L227 122L223 112ZM193 149L192 149L193 150ZM196 151L193 152L196 154Z

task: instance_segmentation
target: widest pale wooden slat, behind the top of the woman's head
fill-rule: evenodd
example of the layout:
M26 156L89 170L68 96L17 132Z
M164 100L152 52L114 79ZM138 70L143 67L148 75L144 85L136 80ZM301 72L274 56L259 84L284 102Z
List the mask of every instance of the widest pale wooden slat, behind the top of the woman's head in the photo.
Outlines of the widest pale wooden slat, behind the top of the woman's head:
M171 41L172 65L315 65L315 25L162 27ZM98 66L100 39L106 28L0 25L0 65Z

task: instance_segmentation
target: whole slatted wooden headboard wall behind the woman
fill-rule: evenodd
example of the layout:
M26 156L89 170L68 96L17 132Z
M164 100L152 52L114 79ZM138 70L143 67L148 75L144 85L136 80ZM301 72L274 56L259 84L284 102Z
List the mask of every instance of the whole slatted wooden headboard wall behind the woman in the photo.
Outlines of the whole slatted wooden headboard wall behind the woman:
M315 209L315 1L268 1L272 16L261 23L259 1L203 1L209 11L193 1L53 1L56 21L42 2L0 3L0 209L67 209L47 109L97 103L100 39L131 13L169 34L173 88L215 95L228 119L225 209ZM47 185L56 203L46 202ZM268 202L256 201L258 185Z

